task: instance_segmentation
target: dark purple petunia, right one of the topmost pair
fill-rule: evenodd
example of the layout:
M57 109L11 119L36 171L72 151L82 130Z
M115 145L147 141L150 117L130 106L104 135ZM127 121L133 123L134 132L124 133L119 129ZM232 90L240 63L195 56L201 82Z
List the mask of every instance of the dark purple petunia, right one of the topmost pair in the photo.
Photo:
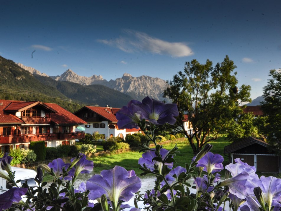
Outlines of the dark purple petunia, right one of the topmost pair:
M142 100L143 108L142 119L146 119L153 124L162 125L165 123L175 124L175 116L179 116L179 110L176 103L163 103L146 97Z

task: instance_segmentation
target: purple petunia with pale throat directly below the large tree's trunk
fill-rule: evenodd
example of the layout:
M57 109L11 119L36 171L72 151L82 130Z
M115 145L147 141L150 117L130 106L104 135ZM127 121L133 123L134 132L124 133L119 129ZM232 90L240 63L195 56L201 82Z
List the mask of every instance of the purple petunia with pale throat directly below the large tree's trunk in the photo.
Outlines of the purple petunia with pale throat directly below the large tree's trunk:
M198 160L198 164L196 165L204 167L204 171L208 173L215 173L221 171L223 169L223 156L219 154L213 154L212 152L207 152L200 160Z

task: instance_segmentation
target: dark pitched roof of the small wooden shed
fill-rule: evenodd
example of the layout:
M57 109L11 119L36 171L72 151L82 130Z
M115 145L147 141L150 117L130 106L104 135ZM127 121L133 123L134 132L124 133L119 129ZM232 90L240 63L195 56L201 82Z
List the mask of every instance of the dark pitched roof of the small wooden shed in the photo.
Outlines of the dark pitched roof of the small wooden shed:
M262 140L256 139L254 137L247 137L247 138L244 138L242 140L233 142L230 145L225 146L224 147L224 154L228 154L228 153L234 152L236 150L243 149L244 147L248 147L248 146L253 145L253 144L259 144L259 145L262 145L264 147L267 147L269 145L268 143L266 143Z

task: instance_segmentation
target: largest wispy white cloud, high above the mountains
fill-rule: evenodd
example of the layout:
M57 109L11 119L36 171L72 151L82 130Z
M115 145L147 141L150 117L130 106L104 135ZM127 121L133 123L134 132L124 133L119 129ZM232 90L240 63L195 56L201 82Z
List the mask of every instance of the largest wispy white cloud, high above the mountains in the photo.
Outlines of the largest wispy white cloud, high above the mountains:
M194 53L186 43L171 43L149 36L146 33L133 30L124 30L126 37L119 37L115 40L97 40L115 48L119 48L127 53L145 51L155 54L165 54L172 57L191 56Z

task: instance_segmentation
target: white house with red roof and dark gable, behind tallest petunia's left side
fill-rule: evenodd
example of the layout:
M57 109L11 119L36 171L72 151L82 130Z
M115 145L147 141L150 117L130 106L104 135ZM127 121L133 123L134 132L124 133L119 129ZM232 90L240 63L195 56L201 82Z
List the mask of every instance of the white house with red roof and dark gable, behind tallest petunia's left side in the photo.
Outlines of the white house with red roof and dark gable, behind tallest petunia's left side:
M99 132L108 137L126 137L127 134L138 133L139 129L119 129L117 126L116 113L120 108L84 106L74 112L76 116L87 122L85 125L85 133L93 134Z

